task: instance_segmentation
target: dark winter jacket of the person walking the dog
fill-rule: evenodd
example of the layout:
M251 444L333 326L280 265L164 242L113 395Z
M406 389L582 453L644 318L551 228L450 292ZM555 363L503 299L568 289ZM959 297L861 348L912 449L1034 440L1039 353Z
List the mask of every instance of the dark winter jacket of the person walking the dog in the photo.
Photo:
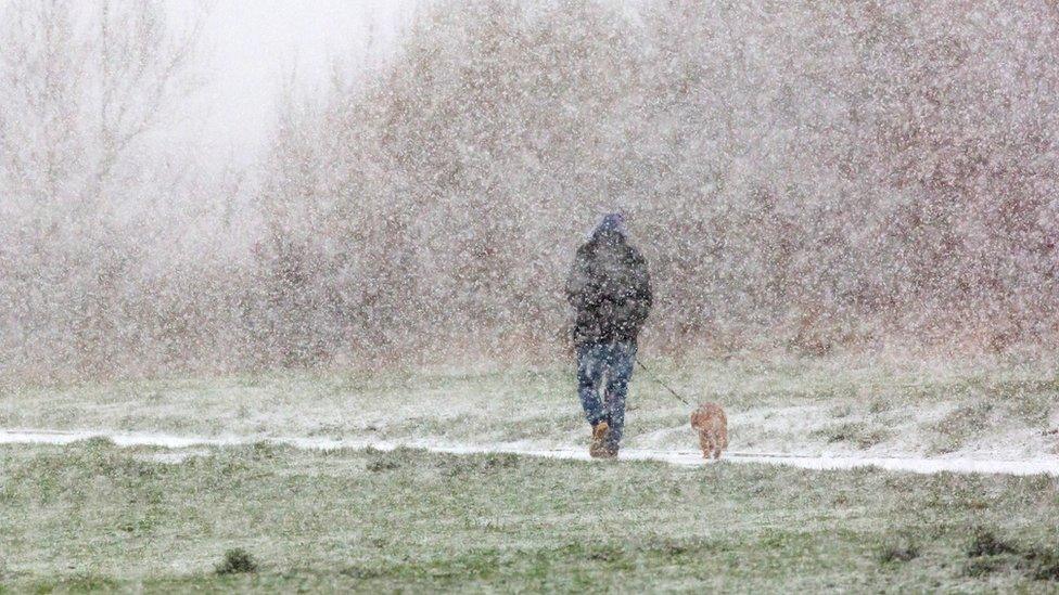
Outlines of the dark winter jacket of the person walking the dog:
M635 341L651 310L651 277L621 231L600 228L577 249L566 281L574 344Z

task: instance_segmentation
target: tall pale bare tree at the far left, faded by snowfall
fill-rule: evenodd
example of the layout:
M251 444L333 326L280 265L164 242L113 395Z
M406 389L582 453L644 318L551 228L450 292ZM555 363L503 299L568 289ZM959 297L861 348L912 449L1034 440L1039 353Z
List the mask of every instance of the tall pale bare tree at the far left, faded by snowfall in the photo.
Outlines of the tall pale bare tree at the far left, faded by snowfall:
M177 27L161 2L0 0L0 352L99 362L133 334L116 312L165 225L145 225L152 201L194 158L164 140L200 85L203 16Z

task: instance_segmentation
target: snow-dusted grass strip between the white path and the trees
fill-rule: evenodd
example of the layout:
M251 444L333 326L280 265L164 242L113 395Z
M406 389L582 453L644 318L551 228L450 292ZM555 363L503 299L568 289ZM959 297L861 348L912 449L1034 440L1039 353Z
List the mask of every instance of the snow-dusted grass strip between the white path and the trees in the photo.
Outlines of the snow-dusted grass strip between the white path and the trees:
M732 449L800 453L1056 454L1059 365L881 357L649 361L729 413ZM692 448L688 408L637 372L627 447ZM584 443L570 366L291 372L0 388L0 428L259 438Z

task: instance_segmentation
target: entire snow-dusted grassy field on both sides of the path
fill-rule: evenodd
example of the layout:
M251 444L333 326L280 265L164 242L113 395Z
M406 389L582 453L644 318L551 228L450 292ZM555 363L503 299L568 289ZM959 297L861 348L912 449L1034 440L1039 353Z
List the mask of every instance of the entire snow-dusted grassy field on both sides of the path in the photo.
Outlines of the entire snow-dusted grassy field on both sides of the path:
M733 450L1054 455L1048 362L649 361ZM645 375L627 447L692 448ZM0 429L584 445L566 366L0 389ZM24 591L1059 590L1059 480L686 468L268 442L0 445Z

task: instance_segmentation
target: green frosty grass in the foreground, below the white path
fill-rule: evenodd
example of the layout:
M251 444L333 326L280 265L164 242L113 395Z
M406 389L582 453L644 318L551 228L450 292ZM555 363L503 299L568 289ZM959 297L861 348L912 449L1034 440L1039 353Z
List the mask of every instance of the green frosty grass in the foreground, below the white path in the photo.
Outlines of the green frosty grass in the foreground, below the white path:
M0 447L0 584L12 592L1059 588L1059 481L1045 477L264 443L197 449L182 461L166 454L105 440Z

